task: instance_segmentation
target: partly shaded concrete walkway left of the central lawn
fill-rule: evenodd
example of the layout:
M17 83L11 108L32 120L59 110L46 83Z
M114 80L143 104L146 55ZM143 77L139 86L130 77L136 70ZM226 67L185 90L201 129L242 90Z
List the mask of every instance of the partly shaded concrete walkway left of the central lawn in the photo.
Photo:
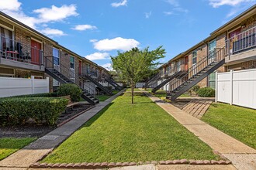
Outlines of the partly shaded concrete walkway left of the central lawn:
M124 90L116 93L115 96L110 97L104 102L97 104L91 110L86 111L73 120L67 122L67 124L56 128L54 131L46 134L42 138L32 142L25 148L16 151L14 154L0 161L0 169L3 167L13 167L13 168L28 168L29 165L38 162L50 151L53 151L58 145L61 145L74 131L77 131L86 121L95 116L100 110L111 103L112 100L116 99Z

